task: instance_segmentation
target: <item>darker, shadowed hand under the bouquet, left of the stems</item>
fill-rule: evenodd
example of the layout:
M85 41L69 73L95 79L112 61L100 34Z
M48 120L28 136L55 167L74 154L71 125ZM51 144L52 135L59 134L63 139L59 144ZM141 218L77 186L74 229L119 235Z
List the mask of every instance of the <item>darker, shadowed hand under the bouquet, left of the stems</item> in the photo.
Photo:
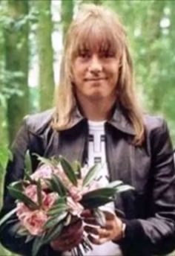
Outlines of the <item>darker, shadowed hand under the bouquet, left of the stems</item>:
M73 247L78 246L83 236L82 220L77 220L75 223L63 228L58 239L53 240L50 246L56 251L68 251Z

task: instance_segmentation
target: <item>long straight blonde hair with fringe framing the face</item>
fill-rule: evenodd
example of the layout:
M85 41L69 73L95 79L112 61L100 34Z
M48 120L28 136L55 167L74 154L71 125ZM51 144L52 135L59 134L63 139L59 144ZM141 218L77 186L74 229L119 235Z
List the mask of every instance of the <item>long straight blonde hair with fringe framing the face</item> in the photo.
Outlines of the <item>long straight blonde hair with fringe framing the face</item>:
M115 51L116 55L120 57L116 101L122 107L125 117L133 125L136 132L135 144L141 144L144 136L144 124L133 89L133 65L125 29L116 13L94 4L83 5L82 10L79 10L76 19L67 31L59 86L56 92L56 115L53 118L53 127L57 130L71 127L71 116L76 108L71 79L73 58L82 47L93 47L93 38L99 39L99 47L112 48L112 51Z

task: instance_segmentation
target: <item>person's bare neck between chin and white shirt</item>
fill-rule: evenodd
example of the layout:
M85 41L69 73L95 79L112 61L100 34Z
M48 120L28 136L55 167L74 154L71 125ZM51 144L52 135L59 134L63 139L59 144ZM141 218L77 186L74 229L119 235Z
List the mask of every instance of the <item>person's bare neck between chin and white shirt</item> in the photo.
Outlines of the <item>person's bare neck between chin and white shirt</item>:
M116 97L113 100L89 100L87 98L79 99L79 105L82 109L83 115L91 121L108 120L111 115L111 110Z

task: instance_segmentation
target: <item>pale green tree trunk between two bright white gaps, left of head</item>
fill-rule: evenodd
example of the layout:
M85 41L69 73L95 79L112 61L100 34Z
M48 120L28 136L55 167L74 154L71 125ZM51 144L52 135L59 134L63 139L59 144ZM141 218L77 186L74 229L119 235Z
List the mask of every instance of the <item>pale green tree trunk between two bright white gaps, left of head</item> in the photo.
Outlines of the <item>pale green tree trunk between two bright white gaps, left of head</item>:
M54 91L51 1L38 0L36 1L36 8L39 12L37 44L39 50L40 109L44 110L53 106Z

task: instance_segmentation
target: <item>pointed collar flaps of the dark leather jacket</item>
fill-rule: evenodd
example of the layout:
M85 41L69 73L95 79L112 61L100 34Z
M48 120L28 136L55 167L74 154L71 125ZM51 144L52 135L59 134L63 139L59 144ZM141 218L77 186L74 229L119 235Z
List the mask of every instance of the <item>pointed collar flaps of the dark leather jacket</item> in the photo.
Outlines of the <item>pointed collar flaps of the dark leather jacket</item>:
M85 121L85 119L86 118L81 114L78 107L76 107L76 109L73 111L70 129L72 127L75 127L76 124L79 124L81 121ZM120 109L119 106L115 106L112 118L107 123L112 125L121 132L127 133L129 135L136 135L136 132L134 131L132 124L125 117L125 115L122 112L122 109Z

